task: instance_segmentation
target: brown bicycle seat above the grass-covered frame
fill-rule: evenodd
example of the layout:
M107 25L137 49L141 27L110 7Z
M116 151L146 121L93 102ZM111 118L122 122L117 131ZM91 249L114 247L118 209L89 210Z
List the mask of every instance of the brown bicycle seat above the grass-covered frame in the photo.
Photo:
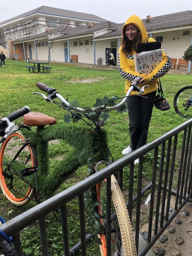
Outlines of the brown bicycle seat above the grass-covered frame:
M43 113L29 112L24 115L23 123L28 126L52 125L57 123L56 119Z

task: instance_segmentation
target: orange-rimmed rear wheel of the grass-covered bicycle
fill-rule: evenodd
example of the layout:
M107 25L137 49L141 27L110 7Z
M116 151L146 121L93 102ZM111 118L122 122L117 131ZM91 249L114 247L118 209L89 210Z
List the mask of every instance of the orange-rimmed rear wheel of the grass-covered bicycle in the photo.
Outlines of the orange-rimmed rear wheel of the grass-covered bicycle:
M24 205L33 197L33 188L19 175L11 172L13 160L24 164L26 168L34 167L37 164L36 149L30 146L29 143L22 143L23 140L21 133L12 133L0 148L0 187L3 195L14 205ZM16 156L16 154L18 155ZM9 176L12 175L12 183L10 178L3 175L2 172L5 170Z

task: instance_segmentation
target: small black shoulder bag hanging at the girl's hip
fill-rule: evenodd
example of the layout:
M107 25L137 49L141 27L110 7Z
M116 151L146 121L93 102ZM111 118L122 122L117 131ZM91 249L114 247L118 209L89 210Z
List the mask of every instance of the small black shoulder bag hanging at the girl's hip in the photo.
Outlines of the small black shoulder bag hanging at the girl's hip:
M162 110L162 111L170 109L170 105L169 105L168 101L166 100L166 98L164 97L164 92L163 92L163 89L161 86L160 79L158 82L158 94L156 95L154 105L157 109Z

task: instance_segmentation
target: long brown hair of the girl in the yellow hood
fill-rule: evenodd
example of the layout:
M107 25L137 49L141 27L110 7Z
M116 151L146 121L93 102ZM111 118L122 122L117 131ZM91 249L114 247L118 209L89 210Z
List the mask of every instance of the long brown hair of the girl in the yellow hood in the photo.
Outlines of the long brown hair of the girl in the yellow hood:
M131 40L129 40L129 38L127 38L127 36L125 34L125 31L126 31L126 26L124 27L123 34L122 34L122 39L121 39L121 46L122 46L121 51L122 51L122 53L124 53L124 54L129 53L133 49L135 51L137 51L138 44L142 43L141 32L138 29L137 36L135 38L136 43L135 43L135 45L133 45Z

